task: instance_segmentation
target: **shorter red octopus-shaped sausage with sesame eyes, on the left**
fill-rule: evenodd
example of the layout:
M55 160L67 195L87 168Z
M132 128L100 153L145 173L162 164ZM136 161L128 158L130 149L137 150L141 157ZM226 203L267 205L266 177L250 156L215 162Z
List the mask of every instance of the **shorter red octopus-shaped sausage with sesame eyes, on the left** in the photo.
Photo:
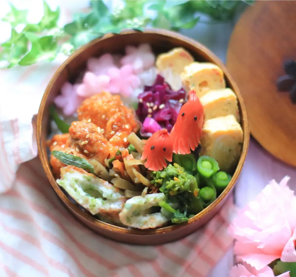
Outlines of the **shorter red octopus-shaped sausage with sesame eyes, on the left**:
M145 167L151 171L159 171L167 167L167 162L171 162L173 157L173 147L171 136L167 129L155 132L146 141L143 147L141 160L147 159Z

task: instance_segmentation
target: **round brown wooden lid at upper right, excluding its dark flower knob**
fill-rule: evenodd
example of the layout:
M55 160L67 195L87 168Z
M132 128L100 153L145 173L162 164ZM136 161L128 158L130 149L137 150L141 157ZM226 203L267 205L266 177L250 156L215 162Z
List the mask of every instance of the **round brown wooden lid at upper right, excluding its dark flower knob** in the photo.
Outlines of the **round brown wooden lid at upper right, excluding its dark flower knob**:
M272 155L296 166L296 105L278 92L283 61L296 59L296 1L257 1L232 33L227 69L237 83L250 132Z

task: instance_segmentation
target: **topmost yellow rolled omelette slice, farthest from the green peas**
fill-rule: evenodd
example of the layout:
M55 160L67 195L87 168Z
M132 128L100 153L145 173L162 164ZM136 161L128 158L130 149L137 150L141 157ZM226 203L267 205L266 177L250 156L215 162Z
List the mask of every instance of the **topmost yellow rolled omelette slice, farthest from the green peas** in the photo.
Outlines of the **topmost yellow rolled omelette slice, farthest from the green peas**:
M158 73L165 78L165 81L171 85L173 90L179 90L182 87L180 74L186 65L194 62L194 58L184 48L174 48L167 53L158 55L156 58L156 68Z

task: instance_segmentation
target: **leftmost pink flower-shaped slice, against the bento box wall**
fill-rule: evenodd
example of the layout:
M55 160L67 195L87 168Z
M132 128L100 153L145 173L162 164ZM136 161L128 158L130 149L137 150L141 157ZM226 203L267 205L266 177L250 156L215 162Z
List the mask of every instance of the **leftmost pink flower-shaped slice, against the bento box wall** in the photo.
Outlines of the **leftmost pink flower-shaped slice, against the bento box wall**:
M84 100L83 97L77 94L78 86L69 82L64 83L61 87L61 94L54 100L55 105L61 108L66 116L73 115Z

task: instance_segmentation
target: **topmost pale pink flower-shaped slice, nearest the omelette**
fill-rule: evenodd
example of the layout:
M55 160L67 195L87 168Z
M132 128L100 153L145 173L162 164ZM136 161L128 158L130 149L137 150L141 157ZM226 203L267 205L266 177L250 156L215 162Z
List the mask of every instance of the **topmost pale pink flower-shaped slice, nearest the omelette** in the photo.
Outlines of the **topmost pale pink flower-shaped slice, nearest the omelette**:
M121 59L122 65L131 65L134 73L139 74L154 65L155 55L149 44L140 44L138 48L127 46L126 55Z

